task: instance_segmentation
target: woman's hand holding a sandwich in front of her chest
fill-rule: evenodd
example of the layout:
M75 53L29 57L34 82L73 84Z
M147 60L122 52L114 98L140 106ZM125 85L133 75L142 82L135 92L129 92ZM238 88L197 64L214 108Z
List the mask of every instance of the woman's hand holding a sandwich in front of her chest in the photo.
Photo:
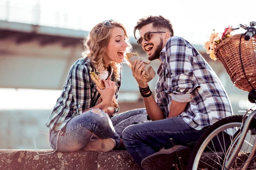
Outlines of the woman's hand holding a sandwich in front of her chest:
M98 85L96 86L96 89L97 91L99 91L99 94L101 95L101 98L102 98L101 103L109 107L112 103L114 94L116 92L116 84L115 82L112 82L110 80L102 79L102 81L105 84L105 89L104 90L100 89Z

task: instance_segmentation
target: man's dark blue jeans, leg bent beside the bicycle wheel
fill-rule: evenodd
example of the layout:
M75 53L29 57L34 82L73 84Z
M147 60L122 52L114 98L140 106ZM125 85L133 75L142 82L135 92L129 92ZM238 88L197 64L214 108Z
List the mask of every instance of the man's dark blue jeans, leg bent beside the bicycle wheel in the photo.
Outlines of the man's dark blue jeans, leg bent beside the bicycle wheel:
M170 148L172 138L175 145L192 144L196 142L203 130L195 130L181 117L151 121L131 125L122 133L122 140L133 159L140 165L141 161L161 148Z

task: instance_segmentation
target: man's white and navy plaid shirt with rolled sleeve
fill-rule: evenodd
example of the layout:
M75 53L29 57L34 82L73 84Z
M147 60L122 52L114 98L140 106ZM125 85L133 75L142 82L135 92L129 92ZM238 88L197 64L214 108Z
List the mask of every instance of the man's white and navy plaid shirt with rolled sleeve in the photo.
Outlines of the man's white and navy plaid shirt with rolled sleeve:
M160 59L163 63L157 71L156 102L166 117L172 99L189 102L179 116L196 130L233 115L217 75L188 41L171 37L161 51Z

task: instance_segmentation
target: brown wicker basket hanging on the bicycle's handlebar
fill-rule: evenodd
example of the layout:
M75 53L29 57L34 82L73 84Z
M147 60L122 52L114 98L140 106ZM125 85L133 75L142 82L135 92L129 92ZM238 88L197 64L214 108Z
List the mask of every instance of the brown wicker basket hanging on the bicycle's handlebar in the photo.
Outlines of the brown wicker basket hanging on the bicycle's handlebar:
M256 36L249 41L236 34L223 40L215 48L215 56L224 65L232 82L244 91L256 89ZM241 57L239 53L239 46Z

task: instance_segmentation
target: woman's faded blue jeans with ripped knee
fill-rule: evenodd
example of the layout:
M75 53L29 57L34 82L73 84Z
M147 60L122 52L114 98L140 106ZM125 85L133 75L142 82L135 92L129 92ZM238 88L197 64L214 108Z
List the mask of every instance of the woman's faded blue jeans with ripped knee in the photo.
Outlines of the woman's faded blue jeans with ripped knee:
M64 133L58 135L58 132L50 130L50 146L54 150L57 146L59 152L74 152L83 148L92 136L96 136L99 139L114 139L114 149L117 149L125 127L141 121L148 121L145 108L119 113L111 119L100 109L90 109L67 122Z

